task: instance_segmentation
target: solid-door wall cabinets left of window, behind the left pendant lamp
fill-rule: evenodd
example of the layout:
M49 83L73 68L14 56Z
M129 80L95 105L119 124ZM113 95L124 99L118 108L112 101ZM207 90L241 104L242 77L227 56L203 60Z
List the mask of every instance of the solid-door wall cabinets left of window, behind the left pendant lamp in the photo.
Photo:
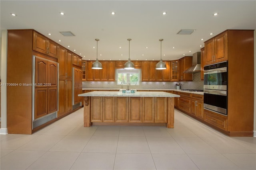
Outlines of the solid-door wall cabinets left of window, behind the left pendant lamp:
M115 61L99 61L102 69L92 69L94 61L86 61L87 81L115 81Z

